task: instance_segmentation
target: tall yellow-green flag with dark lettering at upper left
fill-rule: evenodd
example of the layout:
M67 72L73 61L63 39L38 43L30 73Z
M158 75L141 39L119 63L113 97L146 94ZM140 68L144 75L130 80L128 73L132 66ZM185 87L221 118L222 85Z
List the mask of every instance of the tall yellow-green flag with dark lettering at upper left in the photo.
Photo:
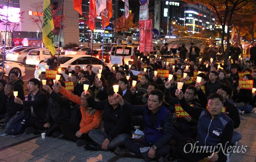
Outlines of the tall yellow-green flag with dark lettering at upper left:
M55 55L53 32L54 29L52 19L52 9L50 6L50 0L44 0L44 19L43 19L43 43L52 55Z

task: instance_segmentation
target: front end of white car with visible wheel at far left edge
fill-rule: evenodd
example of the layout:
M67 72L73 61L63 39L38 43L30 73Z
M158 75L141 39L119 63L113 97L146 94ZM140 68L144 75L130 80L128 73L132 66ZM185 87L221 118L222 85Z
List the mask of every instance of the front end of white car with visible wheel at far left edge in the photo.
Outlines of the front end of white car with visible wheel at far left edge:
M12 61L4 61L4 71L6 75L9 76L10 72L16 71L18 72L18 77L25 75L25 67L23 64L12 62ZM3 61L0 61L0 71L3 71Z

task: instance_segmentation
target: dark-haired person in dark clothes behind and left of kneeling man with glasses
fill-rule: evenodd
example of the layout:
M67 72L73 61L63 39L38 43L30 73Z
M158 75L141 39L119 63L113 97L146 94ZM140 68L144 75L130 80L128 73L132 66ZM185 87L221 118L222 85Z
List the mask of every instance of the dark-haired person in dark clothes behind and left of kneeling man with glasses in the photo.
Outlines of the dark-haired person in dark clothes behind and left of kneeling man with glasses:
M20 98L21 100L25 100L25 95L24 95L24 89L23 89L23 85L24 82L23 80L20 78L18 78L19 74L16 71L12 71L9 73L9 77L10 77L10 83L13 83L15 85L15 90L14 91L18 91L18 98Z

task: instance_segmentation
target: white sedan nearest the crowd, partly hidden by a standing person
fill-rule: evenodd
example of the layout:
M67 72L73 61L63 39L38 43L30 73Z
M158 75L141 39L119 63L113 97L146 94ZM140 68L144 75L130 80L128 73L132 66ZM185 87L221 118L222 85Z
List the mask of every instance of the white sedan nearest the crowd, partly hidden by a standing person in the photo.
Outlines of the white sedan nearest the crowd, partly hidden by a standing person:
M92 62L93 66L93 72L98 73L99 69L102 67L102 60L99 58L96 58L95 56L90 55L65 55L59 57L59 72L63 74L64 78L67 80L68 75L65 74L65 70L68 66L71 66L69 71L71 72L73 69L75 69L76 65L79 65L81 68L84 68L86 70L86 66L90 65ZM39 70L42 72L45 72L45 65L47 65L47 61L44 61L41 64L38 64L35 66L35 78L39 79ZM111 64L107 63L107 66L110 68Z

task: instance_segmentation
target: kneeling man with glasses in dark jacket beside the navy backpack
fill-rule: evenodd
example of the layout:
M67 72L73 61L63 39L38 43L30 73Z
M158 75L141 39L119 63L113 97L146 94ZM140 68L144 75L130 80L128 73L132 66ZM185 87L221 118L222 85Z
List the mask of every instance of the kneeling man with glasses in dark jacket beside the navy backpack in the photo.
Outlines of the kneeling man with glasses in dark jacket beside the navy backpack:
M36 78L29 79L28 101L21 100L20 98L15 98L15 103L21 104L25 111L30 111L31 116L26 124L25 133L30 134L35 131L40 122L44 122L46 116L46 110L48 106L47 95L43 93L40 89L41 83ZM40 124L41 125L41 124Z

